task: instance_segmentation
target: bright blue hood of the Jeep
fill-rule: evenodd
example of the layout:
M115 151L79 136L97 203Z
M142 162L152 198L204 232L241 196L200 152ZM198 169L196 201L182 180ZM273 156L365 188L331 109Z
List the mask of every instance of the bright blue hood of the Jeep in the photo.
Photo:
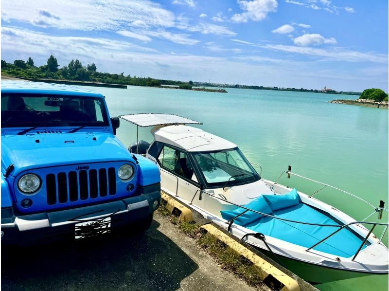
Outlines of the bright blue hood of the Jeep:
M61 164L132 161L124 145L109 133L49 133L1 137L1 171L10 164L21 171Z

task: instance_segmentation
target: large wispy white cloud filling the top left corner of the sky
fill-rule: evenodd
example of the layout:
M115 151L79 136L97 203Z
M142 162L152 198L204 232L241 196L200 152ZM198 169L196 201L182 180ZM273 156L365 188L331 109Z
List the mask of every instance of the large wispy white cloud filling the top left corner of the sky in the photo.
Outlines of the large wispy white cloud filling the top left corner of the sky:
M150 27L173 27L174 14L149 0L64 1L3 0L1 18L35 26L80 31L116 31L132 23ZM31 7L45 7L32 10ZM55 17L48 17L48 15Z

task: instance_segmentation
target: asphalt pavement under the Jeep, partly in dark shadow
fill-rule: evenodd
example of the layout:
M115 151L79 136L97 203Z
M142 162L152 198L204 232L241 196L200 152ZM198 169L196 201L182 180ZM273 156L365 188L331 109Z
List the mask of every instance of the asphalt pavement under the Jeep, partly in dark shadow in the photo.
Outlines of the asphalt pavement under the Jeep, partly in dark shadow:
M5 252L7 252L5 254ZM254 290L168 218L141 235L1 249L1 290Z

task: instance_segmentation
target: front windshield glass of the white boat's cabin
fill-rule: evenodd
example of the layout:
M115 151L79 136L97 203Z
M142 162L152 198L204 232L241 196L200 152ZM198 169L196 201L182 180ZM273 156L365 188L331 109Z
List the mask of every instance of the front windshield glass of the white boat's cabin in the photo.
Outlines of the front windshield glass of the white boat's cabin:
M212 152L193 152L195 163L207 186L224 187L261 179L239 148Z

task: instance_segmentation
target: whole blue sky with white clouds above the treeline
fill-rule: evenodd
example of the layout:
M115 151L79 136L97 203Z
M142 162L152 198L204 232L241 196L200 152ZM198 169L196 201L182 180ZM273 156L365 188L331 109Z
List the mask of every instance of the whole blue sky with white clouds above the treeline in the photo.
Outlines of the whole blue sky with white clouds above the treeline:
M1 58L173 80L388 91L386 0L2 0Z

